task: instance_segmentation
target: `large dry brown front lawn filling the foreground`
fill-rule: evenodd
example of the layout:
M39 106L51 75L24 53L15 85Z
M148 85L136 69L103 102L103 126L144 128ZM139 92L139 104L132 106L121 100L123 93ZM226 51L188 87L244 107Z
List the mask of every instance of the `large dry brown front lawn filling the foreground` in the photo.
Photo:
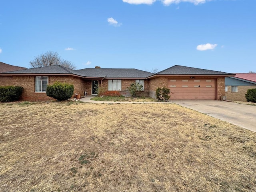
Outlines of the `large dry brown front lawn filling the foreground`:
M176 104L0 104L1 192L252 192L256 133Z

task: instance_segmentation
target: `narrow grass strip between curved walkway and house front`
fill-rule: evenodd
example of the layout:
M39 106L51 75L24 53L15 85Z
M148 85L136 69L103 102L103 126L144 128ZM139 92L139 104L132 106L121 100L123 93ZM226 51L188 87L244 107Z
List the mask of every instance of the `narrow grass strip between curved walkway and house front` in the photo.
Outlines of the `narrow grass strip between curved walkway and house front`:
M151 102L156 101L151 97L125 97L125 96L102 96L91 98L94 101L114 101L114 102Z

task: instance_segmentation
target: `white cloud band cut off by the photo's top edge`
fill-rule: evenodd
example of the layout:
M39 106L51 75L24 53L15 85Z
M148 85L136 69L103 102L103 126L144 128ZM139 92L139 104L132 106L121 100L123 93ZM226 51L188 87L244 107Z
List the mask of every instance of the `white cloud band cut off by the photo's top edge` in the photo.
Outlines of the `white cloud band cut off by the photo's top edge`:
M148 4L151 5L157 0L123 0L123 2L129 3L129 4ZM195 5L198 5L200 3L205 3L206 1L211 1L211 0L158 0L161 1L162 4L165 6L169 6L170 4L179 4L180 2L190 2L194 3Z

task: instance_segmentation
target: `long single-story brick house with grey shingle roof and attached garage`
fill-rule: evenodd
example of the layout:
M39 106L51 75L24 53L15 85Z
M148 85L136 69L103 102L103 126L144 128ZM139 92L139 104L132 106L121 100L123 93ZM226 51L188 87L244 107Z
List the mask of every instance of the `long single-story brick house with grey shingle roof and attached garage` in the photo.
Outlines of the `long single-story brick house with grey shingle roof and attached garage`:
M132 82L143 85L142 95L155 98L156 88L170 88L170 100L209 99L220 100L225 95L225 77L234 74L175 65L156 74L126 68L85 68L72 70L54 65L0 73L0 85L24 87L22 100L50 100L47 85L54 82L74 84L74 94L97 95L98 86L108 94L118 92L128 96L127 87Z

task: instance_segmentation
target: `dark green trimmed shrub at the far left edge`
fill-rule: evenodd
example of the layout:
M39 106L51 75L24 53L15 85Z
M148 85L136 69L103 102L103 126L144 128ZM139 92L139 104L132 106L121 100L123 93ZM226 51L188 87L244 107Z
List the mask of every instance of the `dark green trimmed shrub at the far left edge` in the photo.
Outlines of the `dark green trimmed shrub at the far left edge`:
M0 101L12 102L20 99L24 88L21 86L0 86Z

